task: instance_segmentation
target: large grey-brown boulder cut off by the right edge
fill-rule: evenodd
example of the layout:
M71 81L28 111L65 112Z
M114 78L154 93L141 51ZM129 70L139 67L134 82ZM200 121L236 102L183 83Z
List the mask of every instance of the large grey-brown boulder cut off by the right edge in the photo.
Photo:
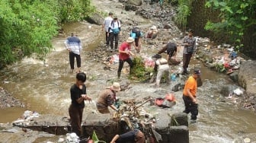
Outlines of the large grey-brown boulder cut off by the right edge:
M256 62L242 62L238 72L238 84L244 87L246 92L256 94Z

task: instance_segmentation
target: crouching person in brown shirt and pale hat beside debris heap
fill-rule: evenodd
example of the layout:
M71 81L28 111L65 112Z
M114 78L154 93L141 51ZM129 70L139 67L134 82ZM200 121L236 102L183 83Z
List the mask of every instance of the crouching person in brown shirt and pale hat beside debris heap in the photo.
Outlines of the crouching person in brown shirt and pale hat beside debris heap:
M121 91L121 87L118 82L114 82L111 87L101 91L96 103L97 109L100 113L110 113L108 106L110 106L110 108L113 110L118 111L113 105L116 100L116 93L118 91Z

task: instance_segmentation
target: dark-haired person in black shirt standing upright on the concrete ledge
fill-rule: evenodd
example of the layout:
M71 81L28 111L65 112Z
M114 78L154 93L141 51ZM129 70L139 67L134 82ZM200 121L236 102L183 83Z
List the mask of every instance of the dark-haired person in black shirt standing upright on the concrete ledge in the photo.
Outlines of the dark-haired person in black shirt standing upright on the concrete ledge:
M86 94L85 87L86 75L80 72L76 75L75 84L70 88L71 105L69 106L69 116L72 126L72 132L76 135L82 135L82 113L85 107L84 100L91 100Z

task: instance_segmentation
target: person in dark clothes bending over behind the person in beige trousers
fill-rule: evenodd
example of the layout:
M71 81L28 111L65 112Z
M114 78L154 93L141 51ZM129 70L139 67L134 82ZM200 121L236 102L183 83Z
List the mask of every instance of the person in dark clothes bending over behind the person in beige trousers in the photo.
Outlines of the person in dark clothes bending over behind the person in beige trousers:
M178 65L181 61L176 59L177 55L177 44L174 41L168 42L162 49L158 51L157 54L167 53L167 61L169 65Z

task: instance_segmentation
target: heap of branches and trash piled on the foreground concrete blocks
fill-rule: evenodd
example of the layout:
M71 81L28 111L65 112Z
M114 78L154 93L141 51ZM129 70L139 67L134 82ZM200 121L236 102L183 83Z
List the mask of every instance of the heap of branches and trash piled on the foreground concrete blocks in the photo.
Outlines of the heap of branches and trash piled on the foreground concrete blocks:
M162 136L154 129L154 123L159 120L157 113L149 113L142 106L149 103L151 106L171 108L176 104L174 93L168 93L165 97L155 99L148 97L144 100L141 103L136 103L135 100L124 100L123 103L119 104L120 108L117 113L114 113L113 118L120 121L122 128L127 129L127 131L140 129L146 136L152 135L155 141L161 141Z

